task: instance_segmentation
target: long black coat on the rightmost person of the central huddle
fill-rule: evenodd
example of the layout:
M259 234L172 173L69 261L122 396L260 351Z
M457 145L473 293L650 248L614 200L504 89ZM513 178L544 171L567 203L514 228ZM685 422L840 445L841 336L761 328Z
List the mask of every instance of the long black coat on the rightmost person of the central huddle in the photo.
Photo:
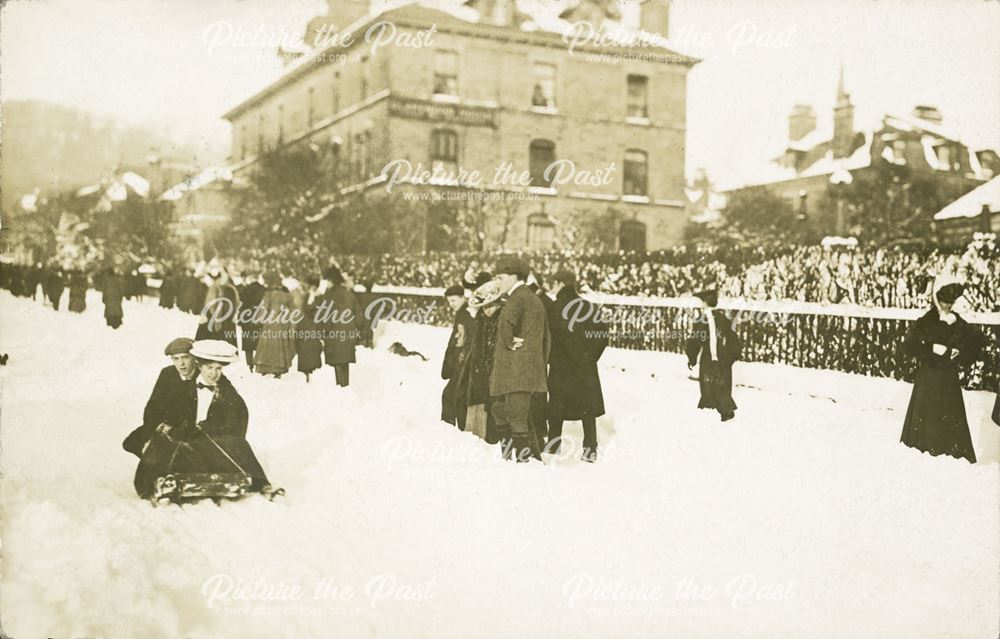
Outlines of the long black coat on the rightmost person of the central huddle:
M580 300L580 301L576 301ZM579 420L604 414L604 393L597 361L608 346L607 324L586 321L573 324L564 317L567 306L589 305L570 287L563 287L549 307L552 352L549 354L548 415L553 419ZM593 309L592 309L593 310Z

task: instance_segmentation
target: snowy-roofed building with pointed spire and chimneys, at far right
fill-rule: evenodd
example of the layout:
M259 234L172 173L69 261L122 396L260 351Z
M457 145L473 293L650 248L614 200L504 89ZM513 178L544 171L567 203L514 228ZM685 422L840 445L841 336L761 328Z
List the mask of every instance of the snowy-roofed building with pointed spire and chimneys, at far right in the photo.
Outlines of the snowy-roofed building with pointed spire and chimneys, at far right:
M886 114L872 127L856 127L843 70L832 115L817 122L812 106L795 105L788 117L785 149L746 185L768 187L824 232L846 231L842 215L823 217L820 210L831 182L852 181L879 163L907 166L916 175L934 179L949 200L1000 172L996 151L963 142L943 125L935 107L918 106L909 115Z

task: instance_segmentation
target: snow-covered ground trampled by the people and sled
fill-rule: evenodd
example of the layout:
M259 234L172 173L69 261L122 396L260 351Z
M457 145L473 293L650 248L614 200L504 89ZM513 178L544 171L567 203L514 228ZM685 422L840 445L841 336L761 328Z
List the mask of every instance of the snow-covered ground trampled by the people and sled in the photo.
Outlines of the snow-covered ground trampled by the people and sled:
M120 444L196 321L101 312L0 293L12 637L998 634L1000 466L900 445L904 383L739 365L721 423L679 356L609 351L599 463L519 466L438 421L446 332L393 324L347 389L227 369L283 503L154 508Z

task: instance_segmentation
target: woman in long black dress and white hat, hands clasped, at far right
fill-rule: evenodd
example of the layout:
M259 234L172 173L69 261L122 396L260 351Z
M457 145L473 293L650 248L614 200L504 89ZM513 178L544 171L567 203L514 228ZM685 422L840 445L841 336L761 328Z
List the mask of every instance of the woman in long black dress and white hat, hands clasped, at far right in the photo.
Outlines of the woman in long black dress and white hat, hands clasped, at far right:
M958 371L976 361L983 338L951 310L963 288L946 280L935 283L934 307L906 334L903 349L919 365L900 441L932 455L975 463Z

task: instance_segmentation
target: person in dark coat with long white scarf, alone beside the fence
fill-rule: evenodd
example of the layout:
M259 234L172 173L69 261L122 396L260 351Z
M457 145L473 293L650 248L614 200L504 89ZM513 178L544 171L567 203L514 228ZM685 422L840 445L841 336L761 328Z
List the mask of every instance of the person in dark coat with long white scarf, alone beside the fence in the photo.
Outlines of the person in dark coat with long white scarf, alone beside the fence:
M717 410L722 421L729 421L736 416L733 363L740 356L739 338L729 318L715 308L719 303L717 291L701 291L695 296L703 304L702 319L695 322L694 336L687 341L686 351L688 368L698 364L698 408Z

